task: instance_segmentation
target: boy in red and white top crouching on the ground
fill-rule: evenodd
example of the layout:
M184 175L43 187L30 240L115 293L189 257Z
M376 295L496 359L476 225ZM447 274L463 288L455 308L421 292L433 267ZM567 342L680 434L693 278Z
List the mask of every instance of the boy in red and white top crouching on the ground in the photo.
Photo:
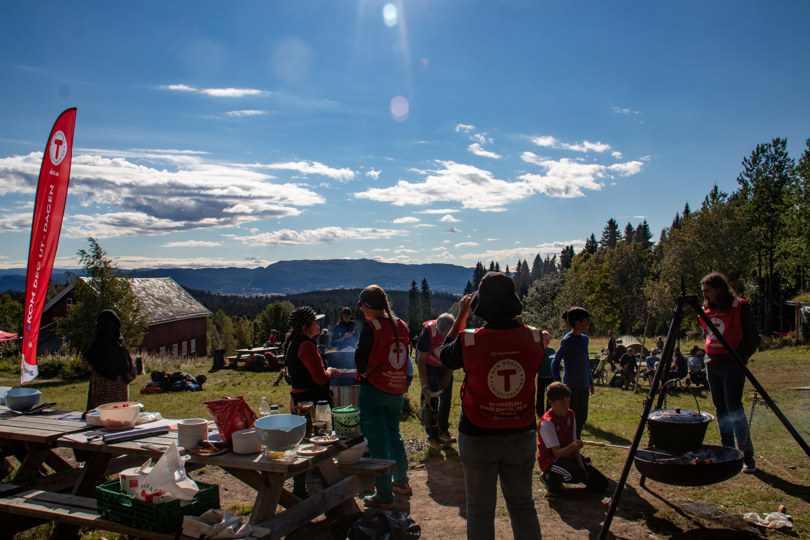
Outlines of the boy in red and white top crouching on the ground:
M548 495L561 495L563 483L584 483L590 491L605 491L607 478L579 453L582 441L577 438L574 411L568 408L571 390L561 382L552 383L546 399L551 408L540 419L537 463Z

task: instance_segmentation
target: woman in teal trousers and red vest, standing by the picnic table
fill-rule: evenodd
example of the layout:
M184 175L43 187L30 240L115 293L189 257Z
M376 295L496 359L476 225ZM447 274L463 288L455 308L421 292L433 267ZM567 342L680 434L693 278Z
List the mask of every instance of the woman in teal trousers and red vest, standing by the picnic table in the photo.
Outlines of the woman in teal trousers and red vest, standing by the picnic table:
M394 317L385 291L377 285L363 289L357 304L366 319L354 352L360 375L360 429L368 439L371 457L396 461L393 478L391 474L378 476L377 492L363 502L367 508L390 510L394 507L394 492L412 493L408 456L399 432L410 362L408 327Z

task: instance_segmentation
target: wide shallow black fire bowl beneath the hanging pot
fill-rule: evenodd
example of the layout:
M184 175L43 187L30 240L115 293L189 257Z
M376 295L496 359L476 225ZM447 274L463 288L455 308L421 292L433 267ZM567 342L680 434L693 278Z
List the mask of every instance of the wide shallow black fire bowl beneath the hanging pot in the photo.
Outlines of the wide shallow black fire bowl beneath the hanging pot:
M638 472L662 484L707 486L736 476L743 457L736 448L704 445L691 452L646 448L633 462Z

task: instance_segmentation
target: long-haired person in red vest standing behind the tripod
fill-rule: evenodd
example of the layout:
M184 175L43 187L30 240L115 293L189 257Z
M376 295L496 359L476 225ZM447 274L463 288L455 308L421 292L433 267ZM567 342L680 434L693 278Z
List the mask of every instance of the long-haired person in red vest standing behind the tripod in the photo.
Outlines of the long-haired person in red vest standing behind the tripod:
M719 272L704 277L700 290L706 315L742 361L747 363L759 344L754 315L748 302L737 297L726 276ZM700 324L706 335L706 376L717 413L720 441L723 446L734 448L736 435L737 448L743 453L743 472L753 473L757 470L754 445L742 405L745 373L702 319Z

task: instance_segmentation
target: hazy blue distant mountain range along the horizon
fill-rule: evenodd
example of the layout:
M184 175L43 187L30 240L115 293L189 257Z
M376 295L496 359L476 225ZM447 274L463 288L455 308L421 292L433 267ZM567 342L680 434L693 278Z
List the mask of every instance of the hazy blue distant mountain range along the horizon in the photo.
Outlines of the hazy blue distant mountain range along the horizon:
M220 294L295 294L377 284L408 290L427 279L431 291L461 294L472 268L454 264L398 264L369 259L280 261L265 268L150 268L126 271L132 277L170 277L183 287ZM64 283L69 270L55 269L51 281ZM72 271L77 274L78 270ZM0 291L25 290L25 269L0 270Z

